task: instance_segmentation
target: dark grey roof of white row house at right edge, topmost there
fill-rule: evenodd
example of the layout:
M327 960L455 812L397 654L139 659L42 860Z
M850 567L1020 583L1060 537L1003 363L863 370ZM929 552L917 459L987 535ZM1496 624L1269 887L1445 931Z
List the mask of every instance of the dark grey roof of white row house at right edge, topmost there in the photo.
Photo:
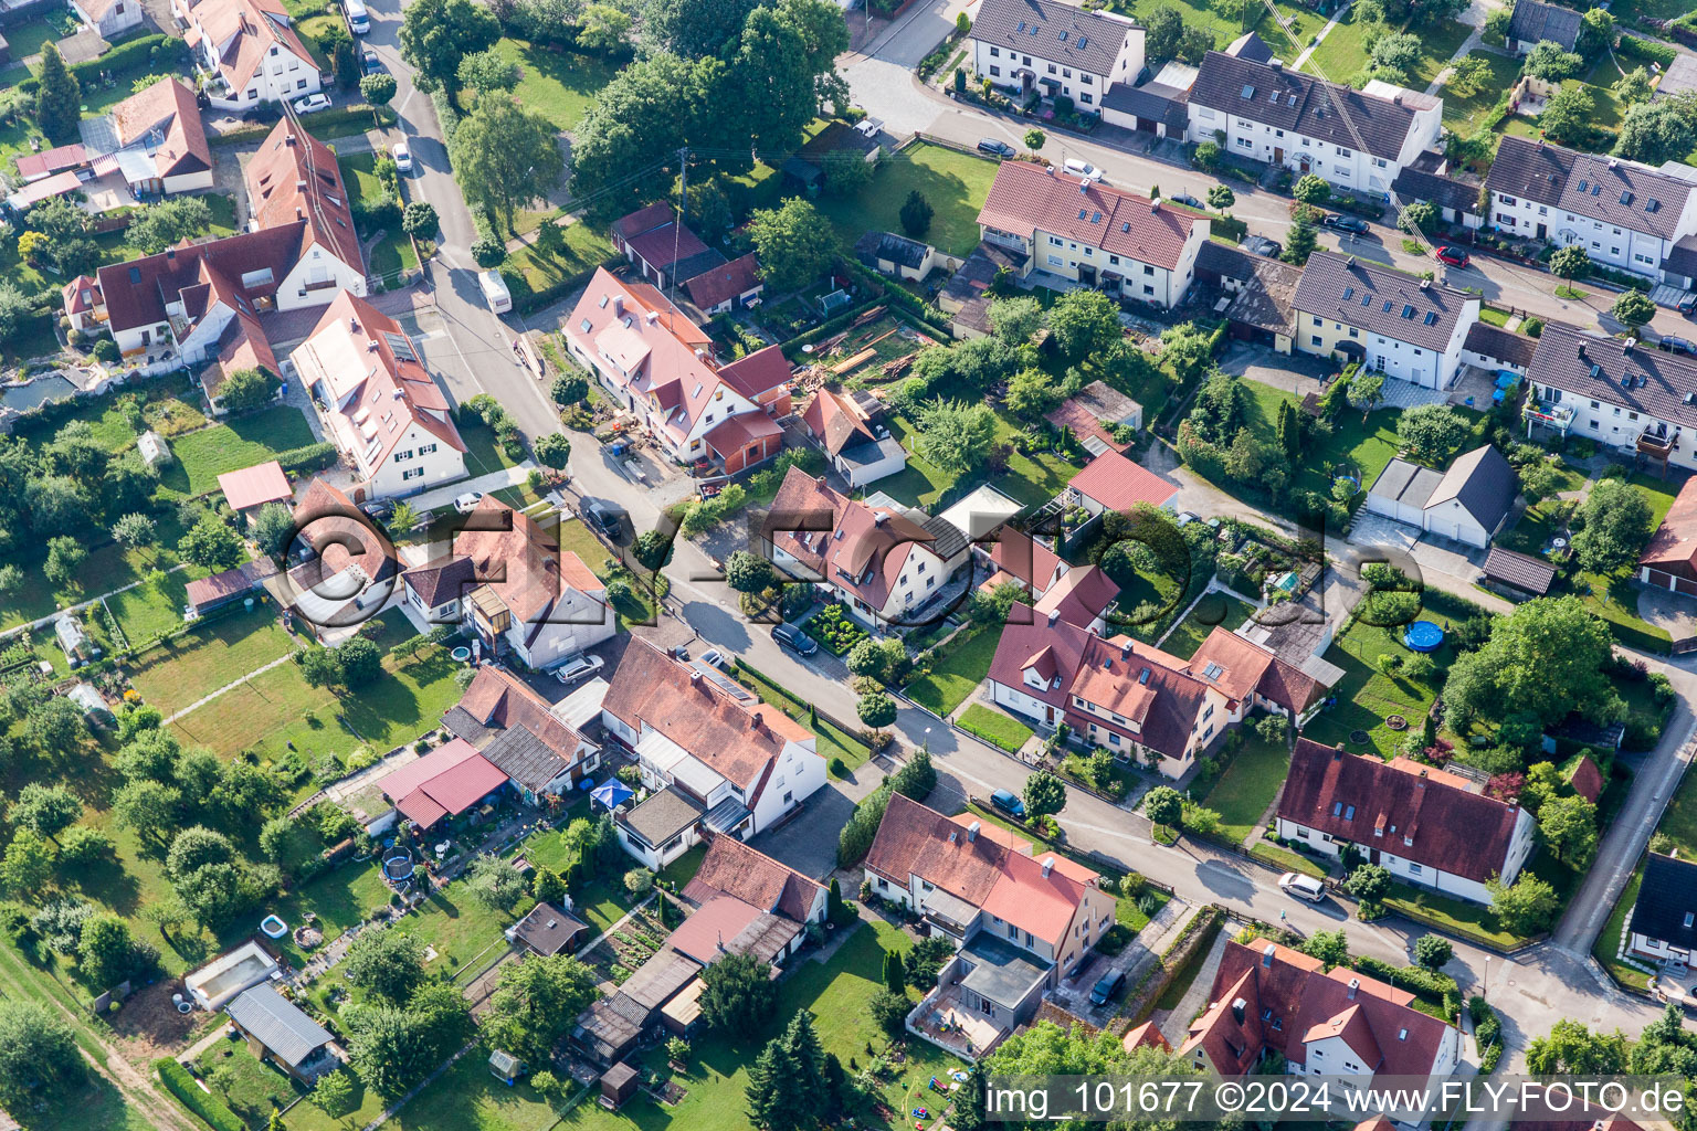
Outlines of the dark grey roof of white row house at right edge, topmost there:
M1599 158L1543 141L1504 136L1485 187L1551 207L1549 231L1561 242L1565 219L1554 209L1619 224L1660 239L1678 234L1694 185L1619 158Z

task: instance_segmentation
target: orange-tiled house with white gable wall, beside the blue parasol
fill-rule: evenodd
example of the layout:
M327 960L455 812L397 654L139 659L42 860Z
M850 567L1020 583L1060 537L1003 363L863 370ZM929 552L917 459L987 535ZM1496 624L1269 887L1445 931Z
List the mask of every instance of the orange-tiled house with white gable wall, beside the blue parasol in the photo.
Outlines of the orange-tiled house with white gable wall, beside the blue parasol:
M772 707L743 705L641 639L630 643L609 680L601 722L636 755L643 785L657 790L616 819L619 843L648 866L708 833L747 839L825 785L825 758L806 727ZM660 843L645 834L655 831L648 807L677 811Z

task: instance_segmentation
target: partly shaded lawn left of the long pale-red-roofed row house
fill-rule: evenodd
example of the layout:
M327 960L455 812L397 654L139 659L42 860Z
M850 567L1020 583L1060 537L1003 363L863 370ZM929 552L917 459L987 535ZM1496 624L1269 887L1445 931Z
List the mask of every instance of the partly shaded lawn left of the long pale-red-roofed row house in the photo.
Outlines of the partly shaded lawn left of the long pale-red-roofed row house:
M818 207L843 244L854 244L862 232L901 232L898 212L916 188L937 210L925 241L952 256L967 256L977 248L977 210L993 180L994 161L920 142L888 156L854 197L826 197Z

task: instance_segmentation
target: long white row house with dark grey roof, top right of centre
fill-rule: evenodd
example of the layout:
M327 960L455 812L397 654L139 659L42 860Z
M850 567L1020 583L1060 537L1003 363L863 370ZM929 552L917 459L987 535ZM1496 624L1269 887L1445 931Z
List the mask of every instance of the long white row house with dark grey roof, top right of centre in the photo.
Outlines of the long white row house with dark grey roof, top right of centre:
M1188 141L1381 198L1403 168L1437 148L1444 119L1442 98L1380 80L1351 90L1278 59L1225 51L1203 56L1188 109Z

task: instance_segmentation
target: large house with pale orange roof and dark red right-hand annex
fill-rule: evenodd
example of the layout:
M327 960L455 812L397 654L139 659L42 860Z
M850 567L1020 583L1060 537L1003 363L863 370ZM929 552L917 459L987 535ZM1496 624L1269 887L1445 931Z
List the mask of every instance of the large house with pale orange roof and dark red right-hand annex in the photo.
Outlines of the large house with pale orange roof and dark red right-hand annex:
M565 344L613 398L641 417L677 463L706 460L735 475L784 448L789 361L767 346L720 366L711 339L648 283L596 271Z

